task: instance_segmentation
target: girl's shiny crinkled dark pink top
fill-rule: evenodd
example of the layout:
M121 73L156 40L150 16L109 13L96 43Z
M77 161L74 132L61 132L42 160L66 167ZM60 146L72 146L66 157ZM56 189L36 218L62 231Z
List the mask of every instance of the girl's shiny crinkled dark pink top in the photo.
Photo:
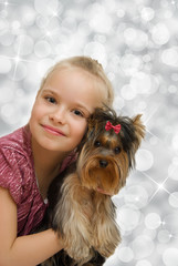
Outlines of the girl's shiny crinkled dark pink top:
M63 161L60 172L75 157L72 152ZM36 184L28 125L0 137L0 186L9 190L17 204L18 236L29 234L42 221L48 204Z

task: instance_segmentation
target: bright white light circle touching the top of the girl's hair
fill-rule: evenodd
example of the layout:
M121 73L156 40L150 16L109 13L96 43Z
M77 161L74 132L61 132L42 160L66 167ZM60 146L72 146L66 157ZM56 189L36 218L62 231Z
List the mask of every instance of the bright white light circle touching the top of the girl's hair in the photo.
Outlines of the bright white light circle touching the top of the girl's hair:
M84 55L88 55L98 61L103 68L106 66L107 55L105 45L100 42L88 42L84 48Z

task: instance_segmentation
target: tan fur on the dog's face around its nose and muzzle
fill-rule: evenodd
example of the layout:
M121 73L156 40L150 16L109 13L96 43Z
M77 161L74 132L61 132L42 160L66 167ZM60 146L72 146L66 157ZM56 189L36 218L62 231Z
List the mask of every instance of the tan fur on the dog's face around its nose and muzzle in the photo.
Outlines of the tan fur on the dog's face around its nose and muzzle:
M116 137L108 136L106 132L93 146L84 146L77 168L83 186L114 195L125 184L128 158L126 152L119 152L123 147Z

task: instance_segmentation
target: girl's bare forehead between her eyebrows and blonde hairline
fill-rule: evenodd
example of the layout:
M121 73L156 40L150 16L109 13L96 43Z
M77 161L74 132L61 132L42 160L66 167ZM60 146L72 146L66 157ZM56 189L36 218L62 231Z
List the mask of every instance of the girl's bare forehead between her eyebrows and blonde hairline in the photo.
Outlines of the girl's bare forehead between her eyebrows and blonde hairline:
M105 102L105 91L101 89L98 79L80 69L56 70L49 76L40 95L52 93L56 99L67 103L85 106L90 113Z

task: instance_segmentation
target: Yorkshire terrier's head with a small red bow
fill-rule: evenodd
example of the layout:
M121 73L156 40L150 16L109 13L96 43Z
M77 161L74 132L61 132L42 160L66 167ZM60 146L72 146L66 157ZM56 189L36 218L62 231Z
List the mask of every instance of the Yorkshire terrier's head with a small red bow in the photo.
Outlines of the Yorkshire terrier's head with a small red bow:
M77 172L82 185L106 195L117 194L135 165L135 153L145 135L140 114L117 116L111 109L96 109L81 149Z

